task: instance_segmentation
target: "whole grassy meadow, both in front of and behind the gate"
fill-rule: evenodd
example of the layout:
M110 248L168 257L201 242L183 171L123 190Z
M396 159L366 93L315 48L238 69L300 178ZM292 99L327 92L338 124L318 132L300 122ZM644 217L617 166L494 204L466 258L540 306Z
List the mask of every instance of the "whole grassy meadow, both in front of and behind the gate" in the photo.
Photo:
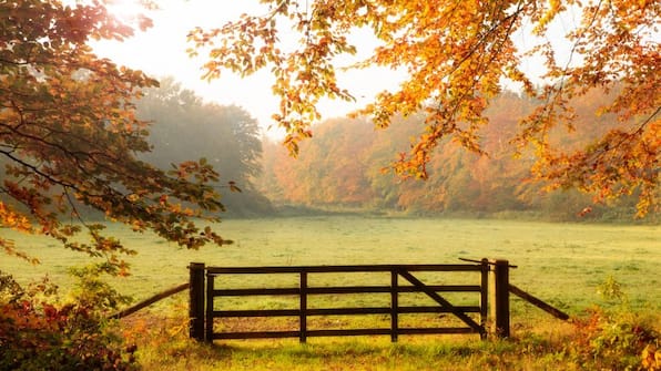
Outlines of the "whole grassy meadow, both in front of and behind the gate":
M598 288L609 278L621 284L633 310L657 319L661 312L659 226L359 216L231 219L218 230L235 243L201 250L181 249L118 225L108 228L139 251L128 257L131 276L112 281L136 300L185 282L191 261L209 266L455 264L460 262L458 258L487 257L518 266L510 271L513 285L571 316L584 316L593 303L603 305ZM9 230L2 234L42 260L31 266L2 258L0 270L11 272L20 282L48 274L67 286L67 268L88 261L48 238ZM267 285L243 279L241 285L248 287ZM270 279L271 285L277 279ZM350 275L329 278L333 284L345 282L340 285L354 279ZM218 341L214 347L186 339L186 299L185 293L177 295L122 321L128 341L140 344L139 358L145 369L555 370L558 364L586 369L573 368L573 361L561 355L565 351L555 348L566 346L570 324L518 299L512 299L513 342L480 342L477 336L404 336L396 344L387 337L359 337L313 338L307 344L298 344L296 339ZM261 307L283 306L267 297L258 300Z

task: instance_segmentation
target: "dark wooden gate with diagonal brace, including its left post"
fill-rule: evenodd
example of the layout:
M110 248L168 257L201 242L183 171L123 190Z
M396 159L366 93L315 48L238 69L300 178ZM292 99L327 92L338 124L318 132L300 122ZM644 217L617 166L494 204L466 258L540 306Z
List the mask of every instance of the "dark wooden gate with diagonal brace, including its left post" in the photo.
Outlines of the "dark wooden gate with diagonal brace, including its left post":
M476 272L474 285L430 285L425 284L423 276L433 272ZM204 264L191 264L191 337L212 342L216 339L254 339L254 338L298 338L305 342L309 337L340 336L390 336L397 341L400 334L425 333L477 333L480 338L487 334L487 297L489 262L487 259L472 264L456 265L364 265L364 266L301 266L301 267L205 267ZM387 274L389 285L350 285L350 286L314 286L308 285L311 277L324 274ZM275 288L232 288L224 286L224 277L228 275L295 275L297 287ZM400 296L418 292L431 299L433 306L403 306ZM454 305L448 293L460 292L475 296L476 305ZM309 308L311 296L327 295L389 295L387 307L352 307L352 308ZM216 307L217 301L227 297L288 296L297 297L297 308L288 309L223 309ZM218 300L215 300L218 298ZM429 300L428 300L429 301ZM400 327L400 315L447 313L458 318L456 327ZM308 319L322 316L365 316L382 315L389 317L388 328L352 328L352 329L308 329ZM228 318L272 318L297 317L297 329L287 331L215 331L214 322Z

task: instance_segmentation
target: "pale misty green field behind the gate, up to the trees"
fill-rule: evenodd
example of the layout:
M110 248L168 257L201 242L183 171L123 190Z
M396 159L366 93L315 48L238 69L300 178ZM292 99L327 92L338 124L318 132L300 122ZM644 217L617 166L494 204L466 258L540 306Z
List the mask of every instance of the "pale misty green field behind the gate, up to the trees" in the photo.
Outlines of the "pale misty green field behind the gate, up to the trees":
M209 266L451 264L458 258L504 258L518 266L513 285L569 313L600 300L609 277L635 309L661 308L659 226L578 225L488 219L323 216L224 220L218 230L233 245L185 250L150 234L109 225L139 251L128 257L132 275L113 284L140 300L187 280L191 261ZM67 268L88 259L48 238L3 235L41 259L31 266L4 257L0 270L27 282L45 274L67 286ZM538 311L515 302L517 311Z

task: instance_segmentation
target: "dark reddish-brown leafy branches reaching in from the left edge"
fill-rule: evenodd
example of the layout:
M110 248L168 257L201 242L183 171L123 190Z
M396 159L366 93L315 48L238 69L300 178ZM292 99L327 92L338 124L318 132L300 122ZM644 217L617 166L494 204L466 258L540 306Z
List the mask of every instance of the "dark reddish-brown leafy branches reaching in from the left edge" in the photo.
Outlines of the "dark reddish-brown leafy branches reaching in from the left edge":
M150 150L149 124L135 117L132 102L156 81L88 45L123 40L130 27L103 1L55 0L0 1L0 24L1 227L105 257L114 272L124 268L118 253L131 251L104 236L103 225L82 219L81 207L189 248L224 241L193 221L215 220L223 209L211 164L184 162L165 172L139 158ZM81 230L89 241L77 236ZM0 249L27 257L3 236Z

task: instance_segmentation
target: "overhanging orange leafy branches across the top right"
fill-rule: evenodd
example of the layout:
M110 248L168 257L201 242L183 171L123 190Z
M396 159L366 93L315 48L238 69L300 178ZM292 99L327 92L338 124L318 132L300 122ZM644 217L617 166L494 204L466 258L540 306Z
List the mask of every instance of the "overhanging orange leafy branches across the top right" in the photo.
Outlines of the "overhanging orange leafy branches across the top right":
M386 66L406 71L408 78L356 114L380 127L396 114L423 112L425 117L410 151L394 164L397 173L426 178L426 164L445 138L484 153L479 128L488 124L485 110L505 83L513 83L537 102L531 114L520 117L512 140L520 152L532 147L539 179L551 188L593 193L597 200L638 193L640 216L658 209L659 1L261 2L267 7L262 14L193 30L190 53L209 53L210 80L223 70L246 75L271 69L273 92L281 97L273 118L287 130L285 145L293 154L312 135L321 99L353 100L337 85L334 61L357 53L350 35L365 29L379 44L353 68ZM565 31L570 48L562 52L552 42L553 28L566 19L576 24ZM283 41L292 33L298 37L295 45ZM519 48L517 38L525 38L529 48ZM538 60L546 70L541 76L521 69L522 61ZM553 143L555 128L573 128L570 100L596 87L612 92L598 112L626 125L580 148Z

